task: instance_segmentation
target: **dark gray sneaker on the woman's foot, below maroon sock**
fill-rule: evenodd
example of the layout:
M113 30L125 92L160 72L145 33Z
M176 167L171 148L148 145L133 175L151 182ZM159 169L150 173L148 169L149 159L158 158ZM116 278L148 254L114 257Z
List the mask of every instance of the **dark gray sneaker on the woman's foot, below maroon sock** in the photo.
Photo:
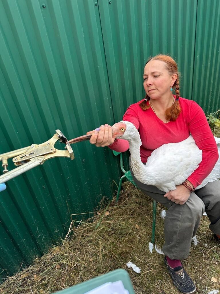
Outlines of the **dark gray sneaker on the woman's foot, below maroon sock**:
M185 272L182 266L172 269L167 263L167 257L164 258L165 265L171 275L173 283L177 289L184 294L191 294L196 291L196 286L190 276Z

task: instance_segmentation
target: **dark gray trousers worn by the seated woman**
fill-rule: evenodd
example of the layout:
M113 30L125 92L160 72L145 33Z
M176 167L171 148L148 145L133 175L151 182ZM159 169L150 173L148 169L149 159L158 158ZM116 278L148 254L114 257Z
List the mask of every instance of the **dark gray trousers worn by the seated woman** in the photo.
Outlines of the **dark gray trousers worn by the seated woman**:
M163 252L171 259L184 259L189 255L192 237L196 234L204 211L209 220L210 230L220 235L220 181L208 183L201 189L190 193L184 205L176 204L163 195L155 186L133 180L145 194L163 204L167 209L164 222L165 244Z

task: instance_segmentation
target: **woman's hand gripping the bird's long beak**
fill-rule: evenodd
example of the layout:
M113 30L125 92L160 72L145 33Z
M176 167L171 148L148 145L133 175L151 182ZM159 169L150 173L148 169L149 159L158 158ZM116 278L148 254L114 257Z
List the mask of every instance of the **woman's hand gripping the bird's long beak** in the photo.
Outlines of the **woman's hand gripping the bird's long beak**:
M97 147L109 146L115 141L115 139L112 138L111 126L109 126L107 123L104 126L100 126L99 132L94 130L87 132L87 135L88 134L92 134L89 142L91 144L95 144Z

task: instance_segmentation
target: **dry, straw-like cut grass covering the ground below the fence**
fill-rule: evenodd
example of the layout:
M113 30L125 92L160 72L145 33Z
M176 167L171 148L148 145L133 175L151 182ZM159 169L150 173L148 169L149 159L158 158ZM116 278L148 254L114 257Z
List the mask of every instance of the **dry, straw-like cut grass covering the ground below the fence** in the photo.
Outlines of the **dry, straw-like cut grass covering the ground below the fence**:
M164 267L163 255L148 250L152 203L140 190L124 183L117 205L113 200L107 209L76 226L60 246L50 248L26 270L9 277L0 293L53 293L117 268L127 269L128 261L141 268L140 274L127 269L137 294L178 293ZM159 204L155 240L160 248L164 243L162 209ZM199 244L192 245L190 257L184 261L197 293L220 288L220 242L214 240L208 224L203 216L197 232Z

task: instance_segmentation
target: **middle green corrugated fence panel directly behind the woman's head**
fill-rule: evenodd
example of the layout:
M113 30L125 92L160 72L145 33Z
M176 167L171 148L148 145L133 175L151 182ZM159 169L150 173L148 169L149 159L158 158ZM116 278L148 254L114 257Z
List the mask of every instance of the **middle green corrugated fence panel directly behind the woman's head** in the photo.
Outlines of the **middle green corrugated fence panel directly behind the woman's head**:
M177 60L181 96L191 99L197 1L110 2L98 3L116 121L144 97L145 63L159 53Z

